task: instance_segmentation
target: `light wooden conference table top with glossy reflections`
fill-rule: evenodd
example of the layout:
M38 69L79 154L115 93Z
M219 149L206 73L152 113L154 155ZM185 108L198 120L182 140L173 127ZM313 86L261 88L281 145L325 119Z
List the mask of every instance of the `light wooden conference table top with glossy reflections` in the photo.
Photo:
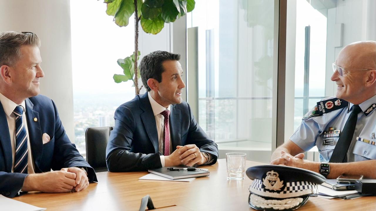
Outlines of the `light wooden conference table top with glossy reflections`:
M246 167L263 163L247 161ZM253 210L248 206L252 180L226 180L226 160L205 166L210 176L191 182L151 181L138 179L147 172L100 172L99 183L92 183L78 193L28 193L15 200L52 210L139 210L141 198L147 194L159 210ZM174 206L176 205L176 206ZM1 209L1 208L0 208ZM323 199L309 197L299 208L304 210L376 210L376 196L358 199Z

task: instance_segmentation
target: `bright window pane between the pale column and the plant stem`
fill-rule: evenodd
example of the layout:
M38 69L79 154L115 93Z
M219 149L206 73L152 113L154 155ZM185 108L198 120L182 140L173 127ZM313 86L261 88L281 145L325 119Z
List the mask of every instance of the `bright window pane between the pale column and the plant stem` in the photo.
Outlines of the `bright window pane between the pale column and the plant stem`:
M113 126L115 109L135 96L131 81L116 84L112 79L123 72L117 59L134 51L133 17L120 28L106 14L103 2L71 0L70 6L74 142L85 153L86 128ZM85 10L90 21L83 18L82 8L90 8Z

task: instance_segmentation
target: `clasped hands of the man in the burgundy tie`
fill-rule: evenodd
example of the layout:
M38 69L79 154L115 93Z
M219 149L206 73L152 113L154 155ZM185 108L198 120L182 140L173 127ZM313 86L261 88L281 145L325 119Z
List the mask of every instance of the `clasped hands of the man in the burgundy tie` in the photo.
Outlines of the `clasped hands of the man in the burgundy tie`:
M165 166L194 164L202 165L206 162L206 158L201 154L200 149L195 144L185 146L176 146L176 150L171 155L165 156Z

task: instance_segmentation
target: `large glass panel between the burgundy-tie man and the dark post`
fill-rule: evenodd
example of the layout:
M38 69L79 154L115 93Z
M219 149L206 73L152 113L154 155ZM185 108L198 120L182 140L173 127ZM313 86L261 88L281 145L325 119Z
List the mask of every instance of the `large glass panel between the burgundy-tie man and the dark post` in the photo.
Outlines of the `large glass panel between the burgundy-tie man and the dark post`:
M273 14L274 0L200 0L188 14L198 27L199 123L220 150L271 149Z

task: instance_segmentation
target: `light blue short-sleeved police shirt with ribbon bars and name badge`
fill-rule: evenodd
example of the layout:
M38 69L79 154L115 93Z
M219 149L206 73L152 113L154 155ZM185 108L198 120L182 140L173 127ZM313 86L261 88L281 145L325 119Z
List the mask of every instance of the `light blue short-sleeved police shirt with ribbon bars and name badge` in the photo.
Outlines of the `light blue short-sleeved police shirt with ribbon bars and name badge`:
M324 98L321 101L332 98L335 96ZM343 99L341 101L346 102ZM352 106L353 104L349 102L349 106L341 109L323 113L321 116L312 116L306 120L302 119L302 124L290 137L290 140L304 151L309 151L316 145L320 152L320 161L329 162L339 137L322 137L322 134L324 131L328 131L329 127L334 127L334 130L340 130L341 136ZM376 110L376 95L359 104L359 107L362 112L358 114L355 132L347 151L347 162L376 159L376 112L373 112ZM357 137L358 139L356 139ZM324 139L334 139L334 144L323 146Z

